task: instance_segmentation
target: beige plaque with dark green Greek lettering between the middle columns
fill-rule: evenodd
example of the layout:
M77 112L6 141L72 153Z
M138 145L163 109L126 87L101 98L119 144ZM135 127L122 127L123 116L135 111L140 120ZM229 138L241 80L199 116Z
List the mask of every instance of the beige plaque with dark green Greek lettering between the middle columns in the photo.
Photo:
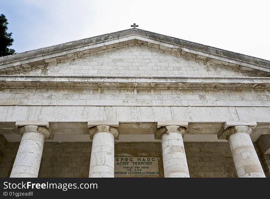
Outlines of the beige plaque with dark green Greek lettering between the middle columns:
M157 157L115 157L114 177L160 177Z

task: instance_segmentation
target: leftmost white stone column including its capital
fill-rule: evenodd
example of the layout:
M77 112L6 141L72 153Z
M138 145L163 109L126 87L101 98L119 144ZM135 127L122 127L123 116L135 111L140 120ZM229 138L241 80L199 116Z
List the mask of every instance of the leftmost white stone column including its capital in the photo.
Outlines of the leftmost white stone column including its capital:
M18 121L16 126L22 138L10 178L37 178L44 141L50 137L49 122Z

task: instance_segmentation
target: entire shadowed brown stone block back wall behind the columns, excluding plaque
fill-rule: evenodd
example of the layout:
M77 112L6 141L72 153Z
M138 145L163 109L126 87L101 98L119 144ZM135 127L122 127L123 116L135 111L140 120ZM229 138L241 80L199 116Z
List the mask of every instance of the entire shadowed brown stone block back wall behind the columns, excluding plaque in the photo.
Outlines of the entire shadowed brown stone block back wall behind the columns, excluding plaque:
M227 142L184 142L184 146L190 177L237 177ZM18 147L18 142L6 143L0 177L9 177ZM39 177L88 177L90 156L91 142L45 142ZM158 157L160 177L164 177L160 142L115 143L115 156ZM270 177L270 155L259 159Z

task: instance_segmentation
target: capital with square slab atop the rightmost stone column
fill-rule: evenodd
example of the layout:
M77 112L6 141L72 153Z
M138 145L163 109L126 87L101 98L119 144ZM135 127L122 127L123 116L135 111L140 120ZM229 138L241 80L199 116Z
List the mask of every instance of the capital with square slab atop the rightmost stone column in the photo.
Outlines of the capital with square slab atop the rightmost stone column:
M256 126L257 122L226 121L223 128L218 132L218 139L228 140L235 133L247 133L250 135Z

